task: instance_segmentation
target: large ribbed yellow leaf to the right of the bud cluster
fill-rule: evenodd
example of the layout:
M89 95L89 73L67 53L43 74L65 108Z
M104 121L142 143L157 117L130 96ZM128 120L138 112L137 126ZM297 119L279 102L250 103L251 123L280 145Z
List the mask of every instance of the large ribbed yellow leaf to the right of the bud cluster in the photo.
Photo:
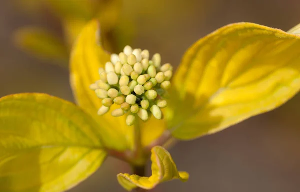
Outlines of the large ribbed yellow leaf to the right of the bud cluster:
M168 128L193 139L270 111L299 91L299 70L300 36L254 23L224 26L184 54Z

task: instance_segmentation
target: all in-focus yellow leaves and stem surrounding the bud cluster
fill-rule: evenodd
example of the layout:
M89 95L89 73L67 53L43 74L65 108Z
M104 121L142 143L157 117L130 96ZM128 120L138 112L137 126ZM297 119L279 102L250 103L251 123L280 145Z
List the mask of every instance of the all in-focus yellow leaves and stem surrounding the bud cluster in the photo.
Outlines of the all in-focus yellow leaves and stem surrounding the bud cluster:
M188 174L177 172L160 146L171 138L190 140L223 130L295 95L300 36L292 33L298 34L298 27L288 33L242 22L201 38L174 74L164 119L128 127L124 116L96 115L101 100L89 85L110 55L101 46L98 22L88 22L70 58L78 106L37 93L0 99L0 191L67 190L92 174L107 154L133 168L144 166L151 154L152 176L117 176L126 190L186 181Z

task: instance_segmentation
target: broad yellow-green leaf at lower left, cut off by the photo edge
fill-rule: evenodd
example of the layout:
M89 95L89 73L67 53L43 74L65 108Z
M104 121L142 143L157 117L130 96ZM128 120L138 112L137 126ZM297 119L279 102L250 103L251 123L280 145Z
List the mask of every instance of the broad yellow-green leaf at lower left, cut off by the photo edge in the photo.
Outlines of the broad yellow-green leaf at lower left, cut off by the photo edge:
M0 191L62 192L103 162L98 125L46 94L0 98Z

